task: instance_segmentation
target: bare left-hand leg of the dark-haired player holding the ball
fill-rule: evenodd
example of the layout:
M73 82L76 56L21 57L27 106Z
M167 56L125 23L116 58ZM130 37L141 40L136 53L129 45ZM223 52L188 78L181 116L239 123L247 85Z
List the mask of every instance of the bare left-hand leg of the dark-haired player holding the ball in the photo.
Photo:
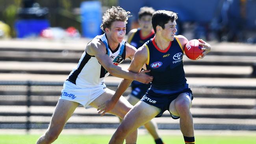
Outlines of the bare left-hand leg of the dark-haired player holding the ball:
M157 107L139 101L126 114L124 120L109 141L109 144L122 144L127 135L154 118L158 113L160 113L160 111L161 110Z

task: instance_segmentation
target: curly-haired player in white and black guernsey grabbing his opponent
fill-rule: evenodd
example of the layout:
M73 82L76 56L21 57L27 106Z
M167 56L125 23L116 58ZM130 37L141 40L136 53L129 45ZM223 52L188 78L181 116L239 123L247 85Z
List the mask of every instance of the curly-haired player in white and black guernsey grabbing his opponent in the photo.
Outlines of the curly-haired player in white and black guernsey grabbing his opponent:
M78 105L98 108L110 100L115 92L104 84L104 78L109 74L143 83L152 81L153 77L145 74L150 70L134 73L118 66L126 58L133 59L136 51L134 46L123 41L129 14L121 7L112 7L104 13L101 29L105 33L87 44L78 65L64 82L50 125L37 144L54 142ZM109 113L124 118L131 108L132 105L122 97ZM137 129L126 138L126 143L134 144L136 140Z

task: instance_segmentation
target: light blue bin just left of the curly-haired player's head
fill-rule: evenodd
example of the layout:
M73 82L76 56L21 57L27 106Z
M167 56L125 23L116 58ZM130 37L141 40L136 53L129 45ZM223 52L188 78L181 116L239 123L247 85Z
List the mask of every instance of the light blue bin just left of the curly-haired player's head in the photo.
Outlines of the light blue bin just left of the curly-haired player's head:
M82 2L82 36L93 38L101 34L101 3L99 1Z

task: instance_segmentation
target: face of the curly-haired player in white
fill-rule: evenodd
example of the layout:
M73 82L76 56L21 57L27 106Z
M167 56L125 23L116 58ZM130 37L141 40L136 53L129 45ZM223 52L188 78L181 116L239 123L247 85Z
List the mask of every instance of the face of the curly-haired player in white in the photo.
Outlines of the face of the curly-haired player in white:
M111 24L109 34L113 42L120 43L126 33L126 24L122 21L115 21Z

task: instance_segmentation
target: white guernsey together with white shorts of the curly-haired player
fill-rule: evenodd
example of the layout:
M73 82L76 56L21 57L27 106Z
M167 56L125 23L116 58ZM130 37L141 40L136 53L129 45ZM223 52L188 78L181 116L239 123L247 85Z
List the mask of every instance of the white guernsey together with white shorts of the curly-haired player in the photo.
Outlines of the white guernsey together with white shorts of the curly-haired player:
M112 51L108 46L106 34L98 35L95 39L105 44L106 54L112 59L113 65L118 65L125 59L125 41L122 41L118 48ZM88 108L98 96L110 90L104 83L104 78L108 75L108 71L100 65L96 57L87 54L85 50L78 65L64 82L59 99L77 102Z

